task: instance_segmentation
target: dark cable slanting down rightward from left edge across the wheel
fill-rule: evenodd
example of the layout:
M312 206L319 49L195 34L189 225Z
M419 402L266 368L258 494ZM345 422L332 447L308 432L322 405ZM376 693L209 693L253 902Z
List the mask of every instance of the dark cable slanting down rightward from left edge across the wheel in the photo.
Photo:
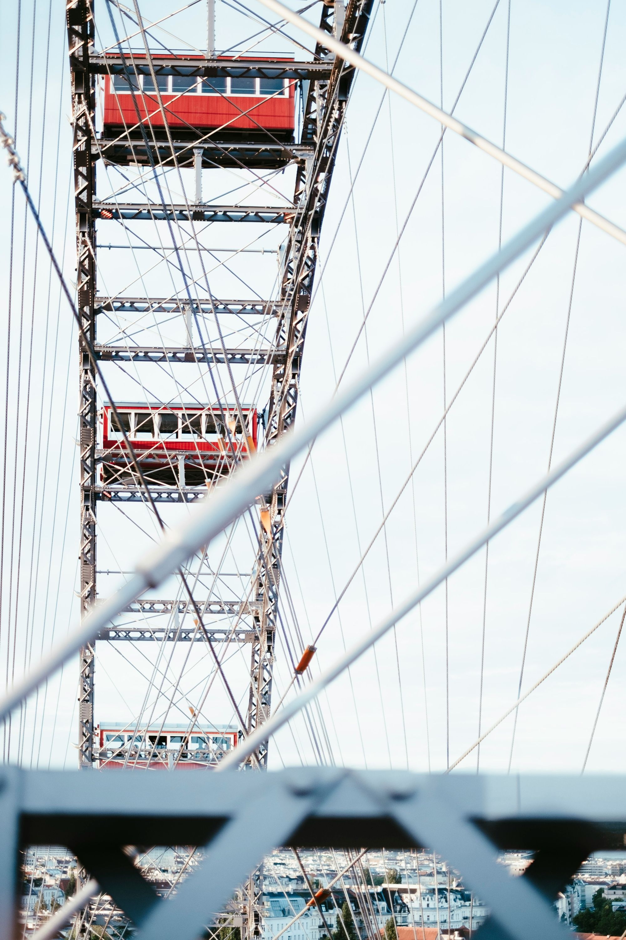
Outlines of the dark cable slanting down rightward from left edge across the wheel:
M51 243L48 241L48 236L46 235L45 229L44 229L44 227L43 227L43 225L42 225L42 223L41 223L41 219L39 218L38 211L37 211L37 209L36 209L36 207L35 207L35 203L33 202L32 197L31 197L31 195L30 195L30 192L29 192L29 190L28 190L28 186L27 186L27 184L26 184L25 175L24 175L22 166L20 165L19 158L18 158L18 156L17 156L15 150L13 149L13 141L12 141L12 138L10 138L10 137L8 136L8 134L5 132L5 129L4 129L4 126L3 126L3 120L4 120L4 115L0 115L0 145L3 146L5 149L8 149L8 153L9 153L8 163L13 167L13 176L14 176L14 180L15 180L15 182L19 182L20 185L21 185L21 187L22 187L23 194L24 194L24 196L25 196L25 198L26 198L26 202L27 202L28 208L30 209L31 213L33 214L33 218L34 218L35 223L36 223L36 225L37 225L37 227L38 227L38 231L39 231L39 235L40 235L40 237L41 237L41 240L43 241L43 243L44 243L44 245L45 245L45 247L46 247L46 250L48 251L48 254L50 255L50 258L51 258L51 261L52 261L52 264L53 264L54 271L56 272L56 274L57 274L57 276L58 276L58 278L59 278L59 281L60 281L60 283L61 283L61 288L62 288L62 290L63 290L63 292L64 292L64 294L65 294L65 296L66 296L66 298L67 298L67 300L68 300L70 309L71 309L72 314L73 314L73 316L74 316L74 320L76 321L76 323L77 323L77 325L78 325L79 332L80 332L81 337L82 337L82 339L83 339L83 341L84 341L85 349L87 350L88 355L89 355L89 358L90 358L90 360L91 360L91 363L92 363L92 365L93 365L95 371L96 371L97 374L98 374L98 377L99 377L100 382L102 383L102 387L103 387L103 389L104 389L104 392L105 392L107 398L109 399L109 401L110 401L110 403L111 403L111 409L112 409L112 411L113 411L113 413L114 413L114 415L115 415L115 419L116 419L116 421L117 421L118 427L121 429L121 433L122 433L122 436L123 436L124 439L125 439L126 446L127 446L128 449L129 449L130 458L131 458L131 460L132 460L132 462L133 462L133 464L134 464L135 470L136 470L136 472L137 472L137 476L138 476L138 477L141 479L141 481L142 481L142 487L144 488L145 493L146 493L146 495L147 495L147 497L148 497L148 500L149 500L149 502L150 502L150 504L151 504L151 507L152 507L152 509L153 509L153 512L155 513L155 516L156 516L156 518L157 518L157 521L158 521L158 523L159 523L159 525L160 525L160 529L161 529L161 531L164 531L164 525L163 525L163 522L162 522L162 520L161 520L161 518L160 518L160 513L159 513L159 511L158 511L158 509L157 509L157 507L156 507L156 505L155 505L154 499L153 499L153 497L152 497L152 493L150 493L149 488L148 488L148 486L147 486L147 484L146 484L146 482L145 482L144 473L143 473L143 471L142 471L142 469L141 469L141 466L140 466L139 462L137 461L137 457L136 457L134 448L133 448L133 446L130 444L130 438L129 438L127 432L124 430L124 428L123 428L123 426L122 426L122 422L121 422L121 419L120 419L120 416L119 416L119 412L117 411L117 408L115 407L115 401L113 400L113 397L112 397L112 395L111 395L111 393L110 393L110 391L109 391L109 388L108 388L108 385L107 385L107 383L106 383L106 380L104 379L104 376L102 375L102 370L99 368L99 362L98 362L98 359L97 359L97 357L96 357L96 353L95 353L95 351L94 351L94 348L93 348L93 346L92 346L92 344L91 344L91 340L89 339L89 337L87 337L87 335L86 335L86 333L85 333L85 331L84 331L84 327L83 327L83 324L82 324L81 319L80 319L80 317L79 317L78 310L76 309L76 306L74 305L74 302L73 302L73 299L72 299L72 297L71 297L71 294L69 293L69 288L68 288L68 285L67 285L67 283L66 283L65 277L63 276L63 273L62 273L62 271L61 271L61 269L60 269L60 267L59 267L59 265L58 265L58 261L56 260L56 257L55 257L55 255L54 255L53 247L52 247ZM204 621L203 621L203 618L202 618L202 614L200 613L200 608L199 608L197 602L195 601L195 599L193 598L193 596L191 595L191 593L190 593L190 591L189 591L189 586L188 586L188 584L187 584L187 580L186 580L185 575L184 575L184 573L183 573L183 571L182 571L182 568L180 568L177 573L178 573L178 576L179 576L180 579L181 579L181 582L182 582L183 586L185 587L185 590L188 592L189 599L190 599L191 605L193 606L195 615L196 615L196 617L198 618L198 622L199 622L200 625L201 625L201 629L204 631L204 634L205 634L205 637L206 637L206 643L207 643L207 645L208 645L208 647L209 647L209 650L211 650L211 654L213 655L213 658L214 658L214 660L215 660L215 662L216 662L216 665L217 665L218 668L220 669L220 672L221 672L221 680L222 680L222 682L223 682L223 684L224 684L224 688L225 688L225 690L226 690L226 693L227 693L228 697L230 697L230 699L231 699L231 702L232 702L232 704L233 704L233 707L235 708L235 711L236 711L236 713L237 713L237 716L239 716L237 701L236 701L236 699L235 699L235 697L234 697L234 695L233 695L233 692L232 692L232 690L231 690L231 688L230 688L230 684L229 684L228 680L226 679L226 676L225 676L224 673L223 673L223 670L221 670L221 666L219 666L219 660L218 660L217 654L216 654L216 652L215 652L215 648L214 648L214 646L213 646L213 644L212 644L212 642L211 642L211 640L210 640L209 635L206 633L206 627L205 627L205 624L204 624ZM243 729L243 724L242 724L241 727L242 727L242 729Z

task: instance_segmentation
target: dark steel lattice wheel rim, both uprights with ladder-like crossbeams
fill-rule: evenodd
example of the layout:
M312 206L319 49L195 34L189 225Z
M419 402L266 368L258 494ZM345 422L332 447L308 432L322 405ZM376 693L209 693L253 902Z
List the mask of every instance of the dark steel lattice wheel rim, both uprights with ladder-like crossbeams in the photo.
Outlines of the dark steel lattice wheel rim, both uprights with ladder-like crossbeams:
M360 49L367 28L373 0L349 0L346 7L342 0L325 3L322 7L321 29L328 35L350 43ZM69 63L72 88L73 118L73 159L75 181L75 211L77 239L77 293L80 315L84 331L96 351L100 361L129 362L135 364L156 361L173 363L204 362L211 368L219 364L258 364L271 371L271 392L267 407L265 440L261 446L272 446L281 435L294 423L298 410L298 384L302 355L306 338L307 321L312 299L313 278L318 254L318 241L328 200L332 172L337 155L337 146L341 134L346 102L354 78L354 70L346 66L330 53L328 48L318 44L313 60L308 62L287 62L284 59L264 57L258 61L238 60L237 66L223 59L211 56L205 59L176 59L176 56L154 55L149 62L150 73L155 76L185 74L201 78L211 76L225 77L229 74L238 76L261 76L266 78L289 79L301 87L303 116L301 135L291 145L276 146L270 140L263 140L259 133L251 133L250 138L239 134L237 140L216 137L199 137L197 141L189 139L189 133L168 132L167 140L158 140L145 133L130 133L124 137L118 135L107 139L106 133L97 133L98 116L96 109L97 86L99 76L124 74L130 68L130 62L122 54L121 46L117 51L110 50L107 55L99 55L95 48L96 29L94 23L93 0L68 0L67 20L69 36ZM242 69L242 65L245 67ZM133 69L140 71L137 63ZM147 68L142 66L144 74ZM134 98L134 94L133 94ZM180 137L180 139L178 139ZM100 202L97 197L96 165L99 160L106 160L117 166L158 165L172 166L176 162L183 167L195 165L196 172L202 167L245 166L252 170L277 168L288 164L297 164L295 187L295 211L286 212L271 207L245 211L237 207L216 207L194 204L172 206L165 202L160 206L151 203L148 206L137 203ZM265 309L274 306L276 315L276 337L271 354L264 358L263 352L250 349L228 350L209 346L195 347L190 352L185 348L146 348L122 345L101 345L97 335L96 322L99 312L111 310L119 312L142 312L145 309L161 310L163 301L154 297L102 297L97 291L97 222L100 219L119 219L136 221L141 219L169 220L182 219L199 221L256 221L260 224L282 223L288 226L284 241L282 263L282 282L280 300L263 302L258 306ZM210 299L201 302L199 313L216 307L241 310L247 308L246 302L221 302ZM248 307L250 303L248 303ZM184 313L176 303L167 309ZM187 311L189 313L189 311ZM99 375L96 364L81 341L80 356L80 445L81 445L81 604L85 613L96 602L96 556L98 522L98 503L104 499L125 501L148 500L153 506L161 503L179 502L181 498L192 501L200 498L206 489L179 486L178 492L160 487L145 480L135 479L134 487L125 483L123 493L115 486L106 487L98 475L98 462L102 455L98 452L98 392ZM268 513L268 525L260 526L256 559L252 566L252 592L249 603L240 603L239 614L246 614L252 622L252 654L250 671L250 694L247 714L244 715L244 733L256 729L266 719L271 709L272 673L274 665L275 636L278 627L278 604L281 582L283 512L286 504L289 482L289 467L282 469L282 478L270 493L263 496L263 505ZM209 497L210 498L210 497ZM154 609L154 601L140 600L132 610L146 611ZM173 611L175 601L160 601L160 610ZM150 606L152 605L152 606ZM182 609L182 608L181 608ZM205 608L205 617L213 612L224 612L224 604L211 604ZM237 612L231 603L226 604L226 612ZM235 631L228 636L221 630L213 630L210 623L203 624L206 638L212 642L221 642L230 638L239 642L244 631ZM139 632L141 633L141 631ZM251 628L246 627L247 638ZM130 639L130 632L123 628L103 631L103 639L123 641ZM133 637L137 639L137 632ZM153 635L145 631L139 638L152 640ZM189 640L190 632L171 631L164 639ZM80 659L80 739L79 763L84 769L92 768L98 755L94 751L94 687L95 687L96 644L85 647ZM267 743L257 751L253 765L267 766ZM249 766L251 762L249 761ZM247 899L244 899L247 931L249 935L260 932L259 895L261 876L256 872L249 883Z

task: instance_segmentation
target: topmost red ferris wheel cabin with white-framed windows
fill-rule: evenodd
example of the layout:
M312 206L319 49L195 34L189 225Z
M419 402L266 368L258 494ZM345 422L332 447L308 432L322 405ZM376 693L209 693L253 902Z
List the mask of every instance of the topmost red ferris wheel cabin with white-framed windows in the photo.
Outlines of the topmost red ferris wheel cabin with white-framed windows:
M221 58L224 62L233 61L232 56ZM143 71L141 66L145 64L145 56L134 55L133 60L138 71ZM237 59L242 67L264 61L267 58L263 56ZM177 71L184 72L185 69L180 67ZM195 70L190 68L188 71ZM245 131L249 135L254 131L269 131L280 140L290 142L293 139L294 79L158 74L156 80L167 125L176 131L219 130L224 136L233 132ZM138 130L137 109L145 127L157 131L165 127L150 74L107 75L104 79L105 133L128 132L135 136Z

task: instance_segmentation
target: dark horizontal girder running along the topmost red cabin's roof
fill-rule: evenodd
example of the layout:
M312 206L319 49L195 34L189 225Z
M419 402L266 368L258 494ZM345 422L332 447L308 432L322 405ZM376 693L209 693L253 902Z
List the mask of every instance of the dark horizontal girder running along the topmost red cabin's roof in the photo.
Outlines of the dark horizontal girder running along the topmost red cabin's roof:
M334 57L334 56L333 56ZM294 62L289 59L272 59L269 56L260 61L258 58L238 58L229 62L223 58L201 58L185 55L160 55L152 53L151 63L157 75L185 75L208 78L210 75L230 75L232 78L291 78L298 81L310 79L313 82L328 80L333 68L332 61ZM117 53L91 55L89 65L94 74L123 75L128 71L127 63ZM133 55L132 70L138 75L150 75L150 66L139 55Z

